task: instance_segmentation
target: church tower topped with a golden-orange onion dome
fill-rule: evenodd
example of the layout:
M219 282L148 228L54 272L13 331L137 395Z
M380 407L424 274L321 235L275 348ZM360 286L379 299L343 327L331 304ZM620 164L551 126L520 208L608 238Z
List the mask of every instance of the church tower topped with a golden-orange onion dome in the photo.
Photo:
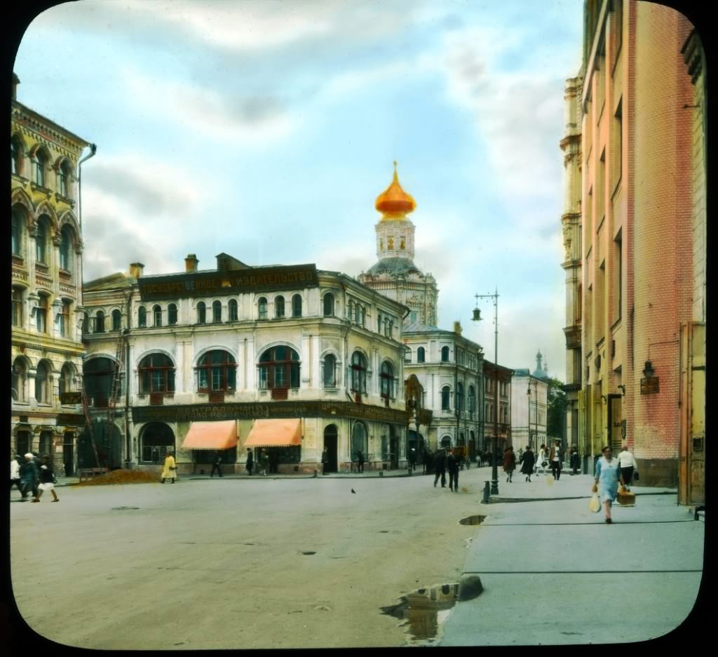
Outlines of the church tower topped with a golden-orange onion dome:
M415 226L407 214L414 211L416 201L399 184L394 162L391 185L376 197L374 207L381 212L375 226L378 262L362 272L358 280L379 293L411 308L406 323L437 326L439 290L431 274L424 274L414 265Z

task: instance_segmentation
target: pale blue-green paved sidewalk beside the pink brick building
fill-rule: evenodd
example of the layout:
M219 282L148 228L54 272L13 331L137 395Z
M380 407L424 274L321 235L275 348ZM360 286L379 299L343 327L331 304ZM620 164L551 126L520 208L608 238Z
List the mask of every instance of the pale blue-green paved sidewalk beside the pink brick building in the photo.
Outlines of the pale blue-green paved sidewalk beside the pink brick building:
M501 474L501 473L500 473ZM478 504L462 579L483 592L457 602L439 645L556 645L648 640L681 625L701 582L703 522L676 491L632 487L635 507L591 513L592 477L499 477ZM530 501L520 501L530 500Z

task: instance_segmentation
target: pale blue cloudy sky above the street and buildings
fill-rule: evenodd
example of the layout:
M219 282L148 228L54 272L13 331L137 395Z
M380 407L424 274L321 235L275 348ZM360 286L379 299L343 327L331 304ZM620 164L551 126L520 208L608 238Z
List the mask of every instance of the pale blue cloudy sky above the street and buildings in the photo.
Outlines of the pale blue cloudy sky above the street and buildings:
M439 327L565 378L564 84L582 0L80 0L29 24L17 99L97 144L84 280L197 254L377 260L376 196L416 200L414 262Z

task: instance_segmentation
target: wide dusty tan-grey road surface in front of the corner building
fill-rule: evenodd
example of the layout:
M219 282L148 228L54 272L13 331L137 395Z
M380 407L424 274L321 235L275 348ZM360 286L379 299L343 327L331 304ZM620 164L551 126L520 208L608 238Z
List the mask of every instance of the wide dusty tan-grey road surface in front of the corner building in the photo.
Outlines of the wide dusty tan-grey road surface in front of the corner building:
M457 582L476 531L458 520L480 513L488 468L461 479L457 494L428 476L62 487L10 505L15 599L84 648L402 645L379 607Z

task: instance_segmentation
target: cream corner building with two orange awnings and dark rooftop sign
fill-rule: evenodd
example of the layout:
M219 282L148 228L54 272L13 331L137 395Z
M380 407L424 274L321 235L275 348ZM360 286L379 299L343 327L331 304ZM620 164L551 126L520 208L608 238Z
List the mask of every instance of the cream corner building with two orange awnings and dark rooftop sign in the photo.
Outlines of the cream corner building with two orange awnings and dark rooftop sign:
M228 254L199 270L86 282L85 388L108 467L271 472L404 467L402 318L408 308L315 265L251 267ZM88 445L83 459L95 458Z

